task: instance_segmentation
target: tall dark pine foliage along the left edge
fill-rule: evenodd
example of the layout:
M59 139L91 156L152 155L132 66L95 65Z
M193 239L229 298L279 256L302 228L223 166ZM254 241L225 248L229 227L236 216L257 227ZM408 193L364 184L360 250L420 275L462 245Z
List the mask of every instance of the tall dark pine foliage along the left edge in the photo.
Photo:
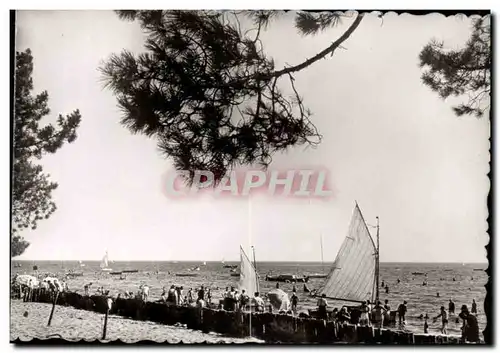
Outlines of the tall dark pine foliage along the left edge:
M26 228L36 229L38 221L47 219L56 210L52 191L57 183L49 180L42 166L36 164L44 154L55 153L65 142L76 139L81 116L78 110L63 117L56 126L41 126L50 114L48 93L32 95L33 56L30 49L16 52L14 94L14 149L12 170L11 255L19 256L28 243L18 234Z

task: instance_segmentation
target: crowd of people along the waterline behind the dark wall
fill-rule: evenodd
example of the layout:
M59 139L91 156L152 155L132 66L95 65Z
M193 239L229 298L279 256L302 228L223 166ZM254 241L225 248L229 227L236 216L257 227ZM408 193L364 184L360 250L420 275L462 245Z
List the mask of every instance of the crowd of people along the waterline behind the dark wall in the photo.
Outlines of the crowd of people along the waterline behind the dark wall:
M46 277L42 280L30 275L16 275L14 284L17 284L20 288L22 295L26 296L31 293L34 288L41 288L44 290L50 290L54 293L68 291L68 285L65 281L59 281L55 277ZM86 284L84 286L84 294L90 295L90 289L92 283ZM276 285L279 288L279 284ZM218 289L218 288L216 288ZM98 287L95 292L97 295L109 296L109 290L105 290L103 287ZM133 292L123 292L118 294L117 298L136 298L147 301L149 298L149 286L142 284L139 286L139 290L136 293ZM245 310L248 306L253 307L256 312L264 312L266 308L270 311L273 310L273 305L269 304L269 300L266 295L264 298L260 293L255 292L253 295L246 293L245 289L241 289L241 292L235 287L226 287L225 291L222 293L222 300L219 300L218 304L213 303L212 289L201 286L200 288L193 289L190 288L184 293L183 286L171 285L169 289L163 288L159 302L163 302L167 305L191 305L203 308L206 306L217 307L219 309L224 309L228 311ZM267 303L266 303L267 301ZM298 314L298 302L299 298L296 293L295 285L292 288L291 296L285 296L281 300L279 307L274 306L278 312L282 314L297 315ZM330 314L328 314L327 308L329 307L327 298L323 295L318 299L317 302L317 316L324 320L334 320L339 323L351 322L351 313L348 307L343 306L340 310L334 308ZM376 303L371 303L366 301L361 304L358 308L361 311L361 315L358 320L358 325L373 325L375 327L383 327L384 322L389 322L391 307L389 306L388 300L385 300L384 305L380 301ZM406 323L406 313L407 313L407 302L404 301L397 308L397 315L399 319L400 326L404 327ZM441 333L447 334L447 328L449 320L455 315L455 303L450 299L448 305L448 311L442 306L440 312L433 318L433 322L441 319ZM477 304L473 300L471 305L471 310L469 312L467 305L462 305L461 311L455 318L456 322L459 323L462 319L462 332L468 341L477 341L479 339L479 329L477 324ZM299 316L307 316L306 313L300 313ZM430 319L428 314L425 316L420 315L419 319L424 320L424 332L428 333Z

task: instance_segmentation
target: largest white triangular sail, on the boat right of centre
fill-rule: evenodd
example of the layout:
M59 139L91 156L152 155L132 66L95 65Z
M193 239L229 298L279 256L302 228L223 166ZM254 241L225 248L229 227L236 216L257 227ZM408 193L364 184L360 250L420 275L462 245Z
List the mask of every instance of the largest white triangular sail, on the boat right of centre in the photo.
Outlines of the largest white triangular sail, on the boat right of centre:
M356 204L347 237L317 294L346 301L373 301L376 251L361 210Z

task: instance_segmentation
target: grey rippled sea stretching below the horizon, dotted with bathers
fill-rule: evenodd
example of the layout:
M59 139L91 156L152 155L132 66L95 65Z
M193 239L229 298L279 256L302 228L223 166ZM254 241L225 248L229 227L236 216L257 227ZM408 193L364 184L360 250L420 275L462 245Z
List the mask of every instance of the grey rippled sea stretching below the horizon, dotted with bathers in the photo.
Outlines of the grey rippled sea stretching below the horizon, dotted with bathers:
M226 265L239 265L239 262L225 262ZM12 261L11 275L36 274L33 266L37 266L38 274L55 275L64 277L69 271L83 272L81 277L73 277L67 280L69 290L78 293L84 292L84 285L92 282L92 289L104 287L110 290L110 294L117 295L120 292L137 292L141 284L150 287L150 299L159 299L163 287L170 285L182 285L184 293L189 288L199 288L201 285L212 288L213 301L222 298L222 293L228 286L238 284L238 277L231 276L230 269L224 268L221 262L165 262L165 261L143 261L143 262L112 262L109 267L113 271L136 269L137 273L127 273L125 278L119 275L103 274L100 271L99 261ZM327 273L332 264L317 262L261 262L257 263L257 271L261 276L259 283L260 292L266 293L276 288L276 282L264 280L267 273L273 274L307 274ZM188 270L199 267L194 277L178 277L178 273L186 273ZM457 322L458 313L462 305L471 308L472 300L475 299L478 308L478 323L480 332L486 327L486 315L484 312L484 300L488 275L485 270L487 264L467 263L381 263L380 282L389 287L389 293L380 289L380 299L383 302L389 300L392 310L404 300L408 302L408 313L406 329L422 333L424 320L420 315L427 314L431 318L428 321L429 333L439 333L441 320L432 320L439 314L441 306L448 310L448 302L455 302L455 315L449 318L448 334L460 335L461 320ZM400 283L398 283L398 279ZM423 285L427 279L427 285ZM307 283L309 289L321 287L325 279L310 279ZM293 284L280 283L280 288L291 295ZM296 285L299 297L299 310L315 308L316 300L305 293L303 284ZM439 293L439 294L438 294ZM439 295L439 296L438 296ZM329 301L329 305L340 308L342 305L352 305L346 302Z

